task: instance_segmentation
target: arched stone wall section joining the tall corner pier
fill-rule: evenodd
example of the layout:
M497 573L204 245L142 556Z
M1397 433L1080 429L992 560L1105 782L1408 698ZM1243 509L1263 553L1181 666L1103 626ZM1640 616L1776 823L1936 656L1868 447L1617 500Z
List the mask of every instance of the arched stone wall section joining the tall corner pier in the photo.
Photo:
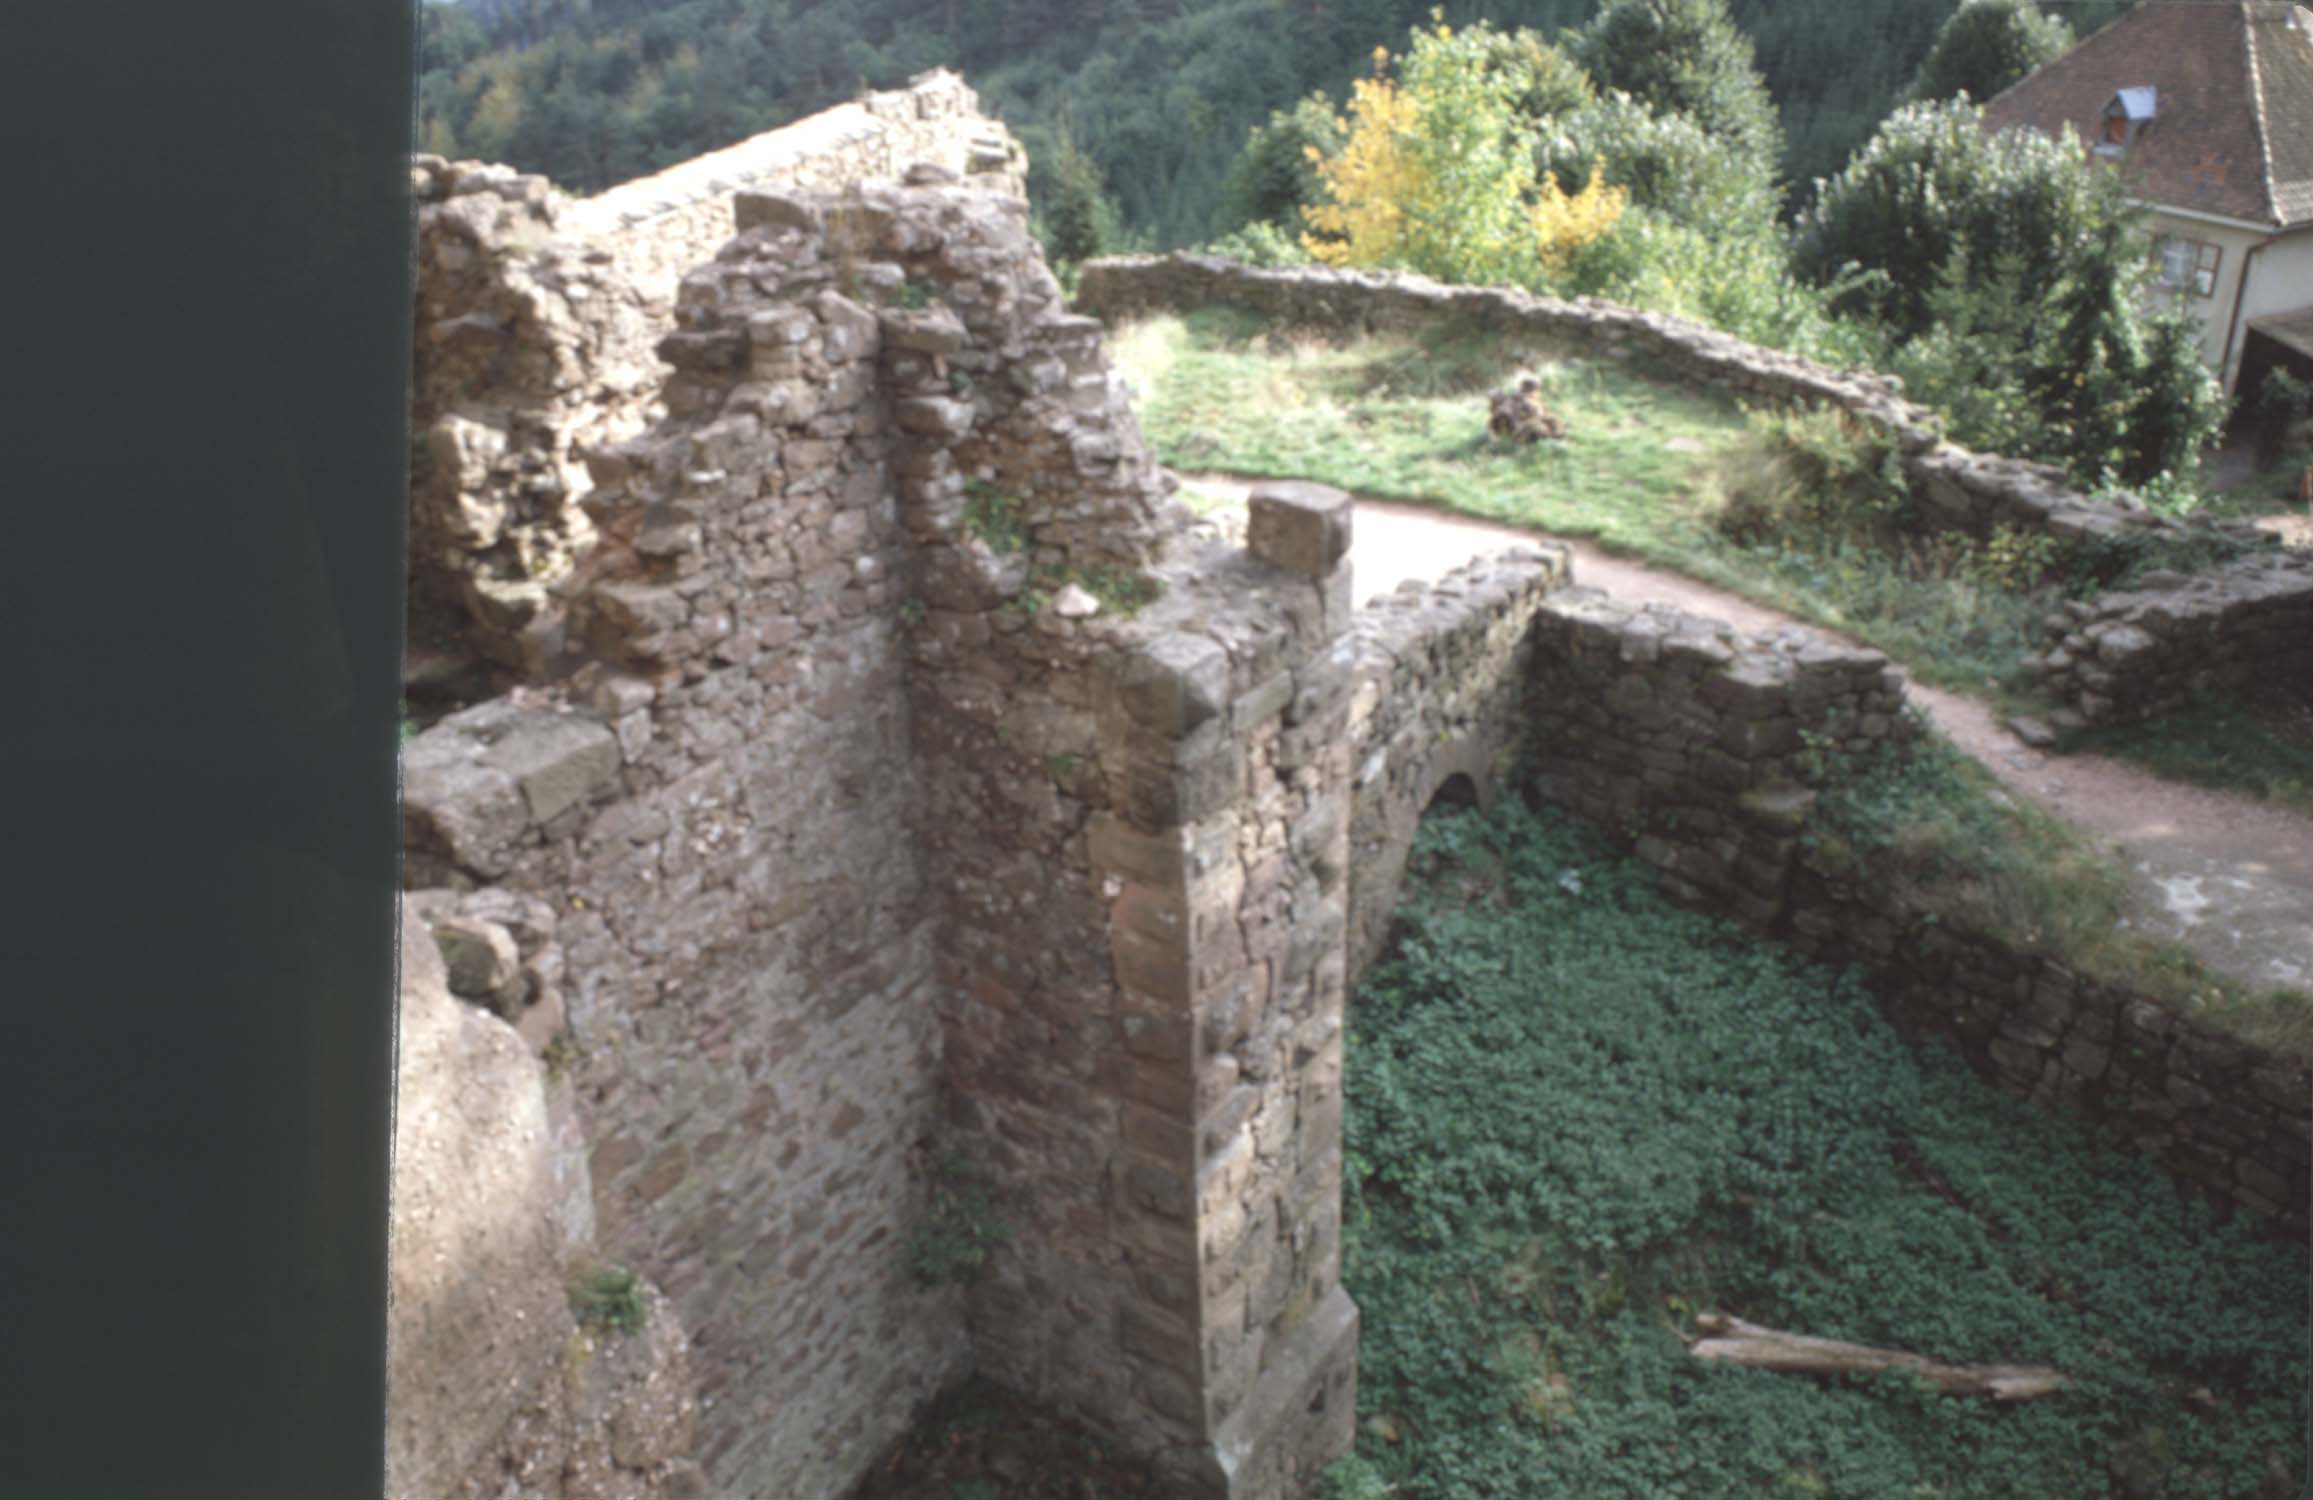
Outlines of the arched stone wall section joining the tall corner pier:
M1358 612L1351 710L1351 980L1381 955L1422 814L1455 777L1480 807L1508 786L1536 698L1536 617L1564 587L1561 545L1406 582Z

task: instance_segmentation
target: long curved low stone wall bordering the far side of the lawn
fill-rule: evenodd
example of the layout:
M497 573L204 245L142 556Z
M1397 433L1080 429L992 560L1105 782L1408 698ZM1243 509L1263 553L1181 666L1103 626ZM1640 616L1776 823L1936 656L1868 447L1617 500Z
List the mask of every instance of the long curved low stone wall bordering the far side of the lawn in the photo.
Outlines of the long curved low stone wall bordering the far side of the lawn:
M1448 319L1466 321L1540 354L1635 356L1698 388L1850 411L1894 441L1906 478L1924 499L1924 515L1938 527L1973 536L2012 527L2096 550L2135 534L2183 532L2133 497L2105 502L2077 492L2061 469L1941 441L1936 416L1904 400L1887 377L1830 370L1702 324L1596 298L1568 303L1499 287L1446 287L1399 273L1265 270L1214 257L1168 254L1089 261L1076 305L1106 321L1237 305L1328 335L1411 333Z

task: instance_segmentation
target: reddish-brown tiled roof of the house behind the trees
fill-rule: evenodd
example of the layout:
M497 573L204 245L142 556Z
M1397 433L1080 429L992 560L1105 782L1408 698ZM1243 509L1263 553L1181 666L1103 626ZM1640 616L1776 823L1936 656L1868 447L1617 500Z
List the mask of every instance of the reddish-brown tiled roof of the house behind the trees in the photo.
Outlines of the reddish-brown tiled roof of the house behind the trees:
M2093 143L2123 88L2158 116L2121 159L2133 194L2292 229L2313 224L2313 9L2276 0L2144 0L1985 104L1987 129L2063 125Z

